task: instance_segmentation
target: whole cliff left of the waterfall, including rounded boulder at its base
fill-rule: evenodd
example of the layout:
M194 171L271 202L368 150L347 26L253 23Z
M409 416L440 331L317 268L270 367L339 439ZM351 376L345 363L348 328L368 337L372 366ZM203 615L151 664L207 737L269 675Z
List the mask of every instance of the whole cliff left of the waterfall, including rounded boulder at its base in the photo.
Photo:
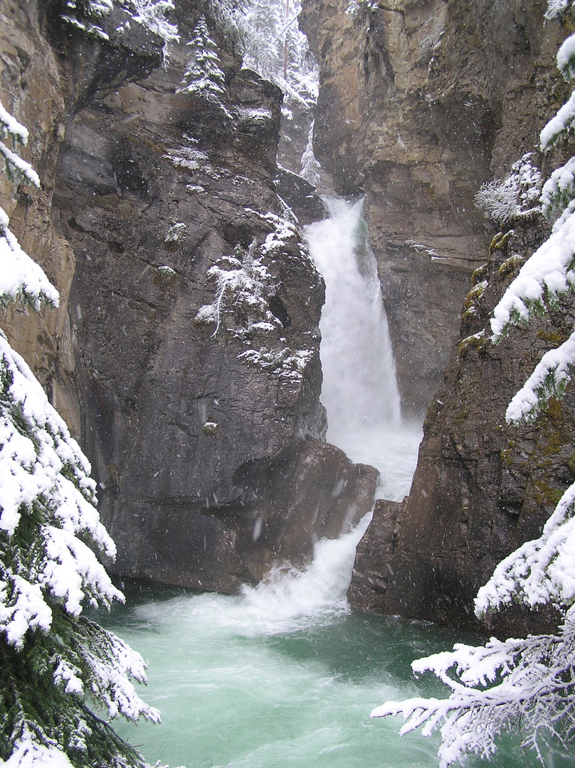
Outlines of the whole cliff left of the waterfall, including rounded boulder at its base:
M324 288L276 194L281 93L217 31L225 97L177 92L198 3L167 70L138 25L103 17L98 42L58 7L2 12L0 96L43 182L8 213L61 291L6 324L91 458L116 570L234 591L337 535L377 479L323 442Z

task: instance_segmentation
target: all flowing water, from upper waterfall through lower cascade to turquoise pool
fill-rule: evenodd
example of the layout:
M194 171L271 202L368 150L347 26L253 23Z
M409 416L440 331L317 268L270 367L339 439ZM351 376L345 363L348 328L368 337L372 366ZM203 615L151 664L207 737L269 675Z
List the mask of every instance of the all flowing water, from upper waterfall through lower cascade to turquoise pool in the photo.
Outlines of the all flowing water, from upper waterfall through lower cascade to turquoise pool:
M377 495L402 498L421 429L401 421L361 203L330 206L330 220L307 228L327 285L327 439L354 461L380 468ZM118 723L121 736L152 765L172 768L437 766L437 736L400 739L400 722L370 720L370 712L389 699L444 695L437 680L415 680L410 662L466 638L433 624L351 611L345 593L365 525L338 541L320 541L307 571L278 571L238 597L122 584L127 605L105 624L148 661L144 697L161 710L162 723ZM506 738L492 764L524 768L535 758L527 761L518 740ZM557 754L547 759L548 768L573 765Z

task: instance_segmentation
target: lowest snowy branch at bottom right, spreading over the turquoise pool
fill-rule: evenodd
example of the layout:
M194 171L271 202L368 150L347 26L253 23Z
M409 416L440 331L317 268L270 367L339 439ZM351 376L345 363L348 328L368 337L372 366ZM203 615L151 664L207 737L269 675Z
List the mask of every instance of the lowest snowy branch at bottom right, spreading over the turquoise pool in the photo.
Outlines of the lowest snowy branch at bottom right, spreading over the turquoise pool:
M492 637L484 646L457 644L453 651L414 661L414 673L432 672L450 688L450 697L391 701L371 716L403 717L401 735L421 727L421 735L429 737L439 729L440 768L469 753L489 759L500 733L514 732L519 724L523 746L543 763L543 744L567 748L575 736L574 653L571 609L557 634L504 642Z

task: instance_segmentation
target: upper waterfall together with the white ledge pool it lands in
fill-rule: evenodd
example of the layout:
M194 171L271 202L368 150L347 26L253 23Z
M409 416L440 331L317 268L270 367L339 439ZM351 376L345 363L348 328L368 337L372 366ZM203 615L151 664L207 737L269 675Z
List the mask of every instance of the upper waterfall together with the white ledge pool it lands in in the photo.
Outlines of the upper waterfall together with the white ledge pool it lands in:
M321 314L321 402L327 439L354 462L381 472L382 498L409 492L421 439L419 424L401 420L395 363L377 263L362 217L363 200L326 198L330 217L306 227L324 276Z

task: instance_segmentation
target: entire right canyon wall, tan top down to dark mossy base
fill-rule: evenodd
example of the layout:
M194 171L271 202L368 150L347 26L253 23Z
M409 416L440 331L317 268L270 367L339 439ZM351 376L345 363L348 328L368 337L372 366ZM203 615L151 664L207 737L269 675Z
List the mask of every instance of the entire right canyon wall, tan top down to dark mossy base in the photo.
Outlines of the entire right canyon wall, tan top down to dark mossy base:
M477 589L540 534L573 482L573 392L534 426L505 422L541 354L569 336L570 305L489 341L491 310L549 223L540 214L513 222L505 252L481 266L497 224L474 206L481 184L503 179L526 152L543 177L555 167L538 138L569 94L555 66L567 33L543 23L545 9L304 3L321 65L317 156L338 190L365 195L404 413L429 404L410 495L378 502L357 549L350 596L364 610L478 629ZM549 621L511 611L491 629Z

